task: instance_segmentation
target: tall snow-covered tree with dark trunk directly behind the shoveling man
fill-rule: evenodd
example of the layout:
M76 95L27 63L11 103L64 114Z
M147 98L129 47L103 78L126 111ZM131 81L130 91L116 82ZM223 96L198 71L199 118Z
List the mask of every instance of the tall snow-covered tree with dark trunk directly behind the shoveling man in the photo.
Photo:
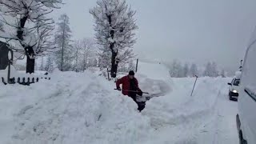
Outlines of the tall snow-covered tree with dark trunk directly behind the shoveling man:
M118 62L124 61L121 54L133 55L130 48L136 42L134 30L138 29L135 11L130 9L126 0L98 0L90 14L95 20L95 37L102 46L102 54L110 54L103 62L110 61L111 77L115 78Z

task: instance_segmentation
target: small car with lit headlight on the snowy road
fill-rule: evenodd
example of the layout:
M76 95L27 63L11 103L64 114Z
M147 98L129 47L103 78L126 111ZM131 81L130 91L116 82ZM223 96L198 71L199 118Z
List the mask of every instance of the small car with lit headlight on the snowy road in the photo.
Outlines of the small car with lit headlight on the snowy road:
M240 79L233 78L232 82L227 83L230 85L229 87L229 97L230 100L238 100L238 85L240 83Z

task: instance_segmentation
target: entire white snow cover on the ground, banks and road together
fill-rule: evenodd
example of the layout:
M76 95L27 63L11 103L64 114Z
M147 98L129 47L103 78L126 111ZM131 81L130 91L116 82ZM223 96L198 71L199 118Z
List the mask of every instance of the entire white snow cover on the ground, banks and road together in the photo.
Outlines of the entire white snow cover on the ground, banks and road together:
M50 81L6 85L0 143L238 143L231 78L198 78L191 97L195 78L170 78L161 64L140 62L135 77L152 96L142 113L90 71L55 70Z

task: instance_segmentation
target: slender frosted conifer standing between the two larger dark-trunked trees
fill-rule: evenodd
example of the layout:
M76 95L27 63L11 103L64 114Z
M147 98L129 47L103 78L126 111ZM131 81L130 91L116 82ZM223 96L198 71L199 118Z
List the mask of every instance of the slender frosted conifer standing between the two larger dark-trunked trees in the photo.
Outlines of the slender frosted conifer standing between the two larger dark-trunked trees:
M58 47L56 52L56 63L58 69L61 71L70 70L72 68L71 61L73 56L73 50L70 45L71 30L70 30L70 18L66 14L62 14L58 18L58 28L55 33L55 42Z

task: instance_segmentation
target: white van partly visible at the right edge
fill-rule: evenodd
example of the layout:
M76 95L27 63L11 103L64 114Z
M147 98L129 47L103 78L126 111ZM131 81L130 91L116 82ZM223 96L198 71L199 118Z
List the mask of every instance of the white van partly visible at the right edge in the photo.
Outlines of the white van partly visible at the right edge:
M246 50L236 117L240 143L256 143L256 31Z

